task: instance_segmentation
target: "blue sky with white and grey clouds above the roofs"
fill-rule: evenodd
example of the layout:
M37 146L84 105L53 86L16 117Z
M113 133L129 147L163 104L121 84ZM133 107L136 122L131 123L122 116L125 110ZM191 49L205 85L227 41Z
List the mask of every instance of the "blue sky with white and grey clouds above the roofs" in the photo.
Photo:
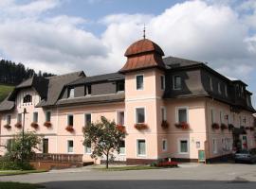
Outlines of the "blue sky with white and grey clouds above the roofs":
M256 94L256 0L0 0L0 59L54 74L117 72L144 24L166 57L208 62Z

